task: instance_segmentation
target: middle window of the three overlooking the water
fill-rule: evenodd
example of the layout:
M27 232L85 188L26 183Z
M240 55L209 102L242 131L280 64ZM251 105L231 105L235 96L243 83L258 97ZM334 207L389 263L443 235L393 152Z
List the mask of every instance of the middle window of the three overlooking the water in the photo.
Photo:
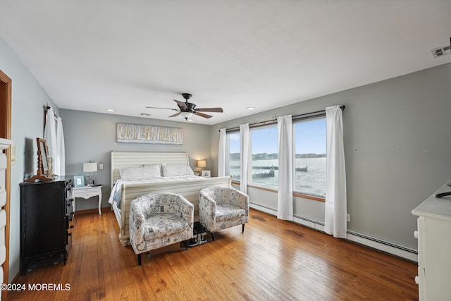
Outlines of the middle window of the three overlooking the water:
M252 178L250 183L278 188L277 125L250 130Z

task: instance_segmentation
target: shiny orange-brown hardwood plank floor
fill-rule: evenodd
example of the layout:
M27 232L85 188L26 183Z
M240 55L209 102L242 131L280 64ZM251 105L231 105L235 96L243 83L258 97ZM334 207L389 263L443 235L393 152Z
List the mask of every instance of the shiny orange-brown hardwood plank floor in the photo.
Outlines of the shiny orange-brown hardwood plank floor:
M417 300L416 264L251 210L215 241L154 257L118 240L112 212L75 216L66 266L18 276L8 300ZM70 290L29 290L42 283ZM58 287L56 287L58 288Z

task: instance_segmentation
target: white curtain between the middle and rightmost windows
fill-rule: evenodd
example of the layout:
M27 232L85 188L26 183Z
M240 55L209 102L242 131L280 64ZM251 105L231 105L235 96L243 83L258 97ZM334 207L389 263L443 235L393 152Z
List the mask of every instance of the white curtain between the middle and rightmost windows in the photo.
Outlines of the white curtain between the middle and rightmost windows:
M293 220L293 167L292 167L292 118L277 118L279 152L279 186L277 194L277 218Z

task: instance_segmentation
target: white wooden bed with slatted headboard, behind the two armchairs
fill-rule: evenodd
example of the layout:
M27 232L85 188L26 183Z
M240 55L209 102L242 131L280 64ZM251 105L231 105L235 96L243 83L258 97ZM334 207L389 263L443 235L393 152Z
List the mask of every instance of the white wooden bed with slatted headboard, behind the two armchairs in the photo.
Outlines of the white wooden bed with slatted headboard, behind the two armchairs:
M111 195L109 203L116 215L116 219L121 228L119 239L123 246L129 245L129 228L128 219L130 214L130 202L150 192L173 192L183 195L188 201L194 204L194 221L199 221L199 191L202 188L210 186L232 187L232 177L212 177L202 178L193 174L185 174L183 176L174 175L173 173L166 176L161 174L160 177L146 178L134 177L127 178L124 176L125 171L135 170L137 167L159 165L161 170L169 167L186 166L190 170L189 158L186 152L111 152ZM177 169L175 169L177 170ZM124 178L121 178L123 173ZM138 174L139 176L139 174Z

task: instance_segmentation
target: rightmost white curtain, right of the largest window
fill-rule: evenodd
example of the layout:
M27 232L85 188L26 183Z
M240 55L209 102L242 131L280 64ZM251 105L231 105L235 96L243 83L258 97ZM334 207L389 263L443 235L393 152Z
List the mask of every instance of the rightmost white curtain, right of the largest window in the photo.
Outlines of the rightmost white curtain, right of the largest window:
M346 172L340 106L326 108L326 123L327 163L324 231L335 238L346 238Z

